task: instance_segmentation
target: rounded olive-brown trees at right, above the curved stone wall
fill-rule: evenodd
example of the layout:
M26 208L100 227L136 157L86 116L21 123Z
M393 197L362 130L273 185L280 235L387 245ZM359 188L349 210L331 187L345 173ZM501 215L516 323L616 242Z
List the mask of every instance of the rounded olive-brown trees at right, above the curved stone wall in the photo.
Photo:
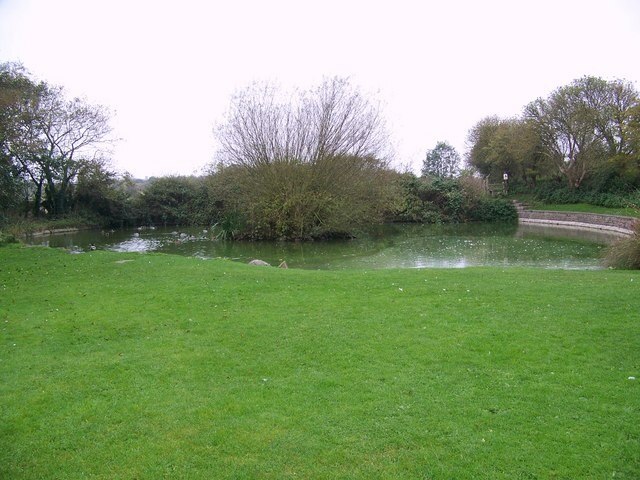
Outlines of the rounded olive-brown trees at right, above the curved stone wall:
M470 167L543 200L640 201L640 100L624 80L585 76L538 98L517 118L480 120L469 132Z

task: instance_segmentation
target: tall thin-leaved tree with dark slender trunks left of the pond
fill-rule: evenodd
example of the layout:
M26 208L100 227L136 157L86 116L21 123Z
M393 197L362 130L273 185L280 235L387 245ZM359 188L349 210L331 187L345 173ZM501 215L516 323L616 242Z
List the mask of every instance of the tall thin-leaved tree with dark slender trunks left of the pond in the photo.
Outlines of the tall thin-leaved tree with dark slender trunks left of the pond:
M36 84L24 71L12 75L23 88L3 122L3 154L32 182L36 214L41 204L51 214L67 213L80 168L101 158L111 142L109 112L78 98L68 100L62 87Z

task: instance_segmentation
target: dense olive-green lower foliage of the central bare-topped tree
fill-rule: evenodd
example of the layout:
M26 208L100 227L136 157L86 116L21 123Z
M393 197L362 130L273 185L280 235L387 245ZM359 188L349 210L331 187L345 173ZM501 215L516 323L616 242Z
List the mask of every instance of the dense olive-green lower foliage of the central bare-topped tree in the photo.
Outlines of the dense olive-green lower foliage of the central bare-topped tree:
M234 237L292 240L349 236L381 222L393 201L392 177L378 160L332 157L224 167L211 185L225 185L214 203L223 223L231 215Z

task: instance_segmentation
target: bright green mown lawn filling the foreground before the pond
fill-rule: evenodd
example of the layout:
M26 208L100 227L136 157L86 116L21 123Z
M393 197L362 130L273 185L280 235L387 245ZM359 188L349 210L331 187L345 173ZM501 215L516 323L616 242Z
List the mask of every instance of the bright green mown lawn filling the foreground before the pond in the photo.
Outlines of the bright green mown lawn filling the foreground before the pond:
M0 478L638 478L639 287L5 246Z

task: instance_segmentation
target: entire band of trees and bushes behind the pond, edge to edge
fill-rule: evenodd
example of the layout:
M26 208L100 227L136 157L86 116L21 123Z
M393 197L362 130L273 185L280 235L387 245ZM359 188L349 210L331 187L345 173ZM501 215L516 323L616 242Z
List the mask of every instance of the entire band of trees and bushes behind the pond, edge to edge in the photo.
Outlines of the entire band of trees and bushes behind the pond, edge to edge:
M513 207L488 187L505 173L512 190L624 203L640 188L638 105L630 83L584 77L518 118L480 120L466 165L439 142L417 176L392 167L379 105L348 80L293 94L255 84L215 127L220 150L205 174L143 182L110 167L106 108L5 63L0 222L72 215L109 226L213 226L223 238L313 239L385 221L511 221Z

